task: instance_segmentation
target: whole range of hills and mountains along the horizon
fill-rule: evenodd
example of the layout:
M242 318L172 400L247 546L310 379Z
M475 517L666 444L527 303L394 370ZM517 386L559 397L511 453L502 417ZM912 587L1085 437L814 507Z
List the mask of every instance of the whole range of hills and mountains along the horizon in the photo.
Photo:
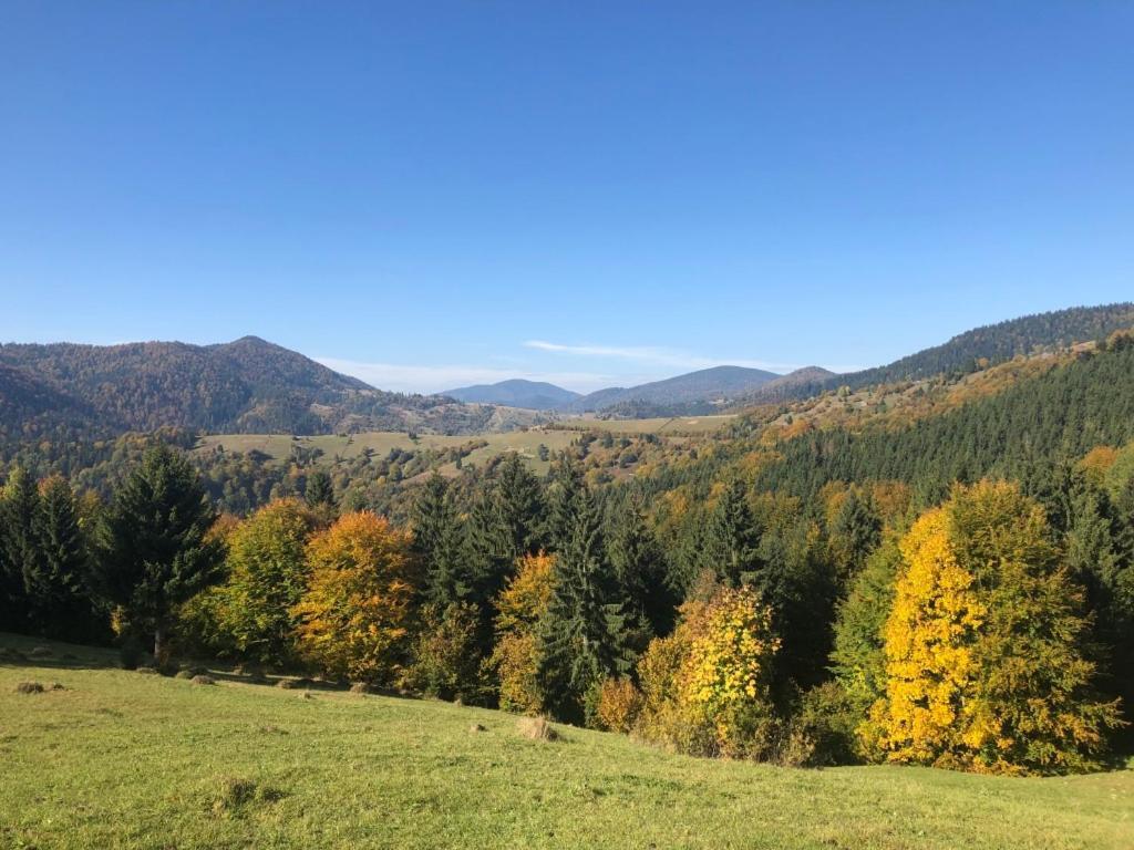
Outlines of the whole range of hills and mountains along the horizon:
M1074 307L978 328L888 366L850 374L816 366L787 375L717 366L586 396L523 380L443 396L384 392L256 337L214 346L0 345L0 437L69 440L167 426L213 433L471 434L538 424L545 416L539 411L703 415L802 399L844 385L854 390L963 374L1129 328L1134 304Z

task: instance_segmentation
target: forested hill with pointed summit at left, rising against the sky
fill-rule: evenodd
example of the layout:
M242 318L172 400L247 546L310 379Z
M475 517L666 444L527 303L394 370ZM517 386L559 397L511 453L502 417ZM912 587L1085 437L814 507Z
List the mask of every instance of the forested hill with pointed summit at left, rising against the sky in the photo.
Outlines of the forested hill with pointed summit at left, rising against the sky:
M214 346L0 346L0 428L9 436L169 426L219 433L475 431L491 416L488 408L375 390L256 337Z

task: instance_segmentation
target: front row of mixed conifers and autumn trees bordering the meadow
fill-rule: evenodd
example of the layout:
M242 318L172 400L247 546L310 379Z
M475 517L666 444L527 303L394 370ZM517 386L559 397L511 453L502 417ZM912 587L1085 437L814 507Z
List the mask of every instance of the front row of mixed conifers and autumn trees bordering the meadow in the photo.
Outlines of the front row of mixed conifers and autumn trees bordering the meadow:
M219 516L159 445L105 503L9 476L0 613L159 666L310 670L699 755L1082 771L1134 697L1126 458L1086 453L1043 501L983 479L922 508L900 482L802 499L737 469L646 499L509 456L472 486L432 475L396 524L325 475Z

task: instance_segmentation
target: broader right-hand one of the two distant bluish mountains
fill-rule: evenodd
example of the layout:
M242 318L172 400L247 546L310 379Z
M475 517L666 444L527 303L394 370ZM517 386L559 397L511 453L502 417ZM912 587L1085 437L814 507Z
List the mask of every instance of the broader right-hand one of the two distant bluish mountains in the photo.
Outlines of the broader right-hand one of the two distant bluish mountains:
M752 392L782 377L775 372L743 366L713 366L665 381L653 381L631 388L610 388L576 399L569 410L634 410L651 415L703 414L718 402ZM659 410L670 413L657 413Z

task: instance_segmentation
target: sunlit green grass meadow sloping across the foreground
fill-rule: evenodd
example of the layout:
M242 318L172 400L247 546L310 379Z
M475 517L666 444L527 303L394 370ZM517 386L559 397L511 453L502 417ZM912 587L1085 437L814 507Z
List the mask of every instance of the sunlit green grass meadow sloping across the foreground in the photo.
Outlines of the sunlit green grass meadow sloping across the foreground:
M25 654L40 643L0 635ZM711 762L569 728L528 740L480 708L308 698L222 672L194 685L46 646L0 662L5 848L1134 847L1131 771Z

